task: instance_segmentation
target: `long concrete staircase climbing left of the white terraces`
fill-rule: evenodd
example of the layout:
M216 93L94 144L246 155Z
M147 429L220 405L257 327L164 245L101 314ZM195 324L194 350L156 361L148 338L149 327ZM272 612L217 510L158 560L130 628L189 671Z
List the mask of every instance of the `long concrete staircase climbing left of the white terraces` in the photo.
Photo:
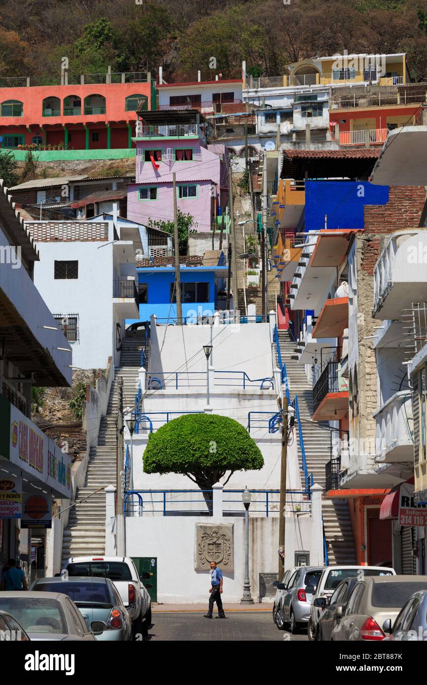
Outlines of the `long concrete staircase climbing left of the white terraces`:
M90 448L88 470L84 487L78 488L75 500L82 503L71 508L69 524L62 540L62 563L72 556L105 554L106 494L104 488L117 482L116 415L118 408L119 378L123 379L123 408L134 408L136 379L141 366L141 347L145 333L137 332L123 338L121 365L112 382L106 416L101 419L98 445ZM95 490L98 493L93 495Z

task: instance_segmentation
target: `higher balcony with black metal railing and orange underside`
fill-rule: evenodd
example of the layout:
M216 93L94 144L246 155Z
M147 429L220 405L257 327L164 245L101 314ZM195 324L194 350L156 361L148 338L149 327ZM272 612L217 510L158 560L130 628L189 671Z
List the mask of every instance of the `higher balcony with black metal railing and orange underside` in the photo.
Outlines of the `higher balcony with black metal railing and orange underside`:
M348 380L339 362L328 362L313 387L313 421L339 421L348 412Z

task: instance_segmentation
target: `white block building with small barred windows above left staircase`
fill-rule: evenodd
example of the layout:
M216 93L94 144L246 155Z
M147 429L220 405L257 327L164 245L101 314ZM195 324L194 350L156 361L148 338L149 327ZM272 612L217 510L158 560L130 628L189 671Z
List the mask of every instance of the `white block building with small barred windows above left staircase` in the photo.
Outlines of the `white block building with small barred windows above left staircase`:
M105 369L119 363L125 319L138 318L134 223L27 222L40 250L34 283L73 349L73 366Z

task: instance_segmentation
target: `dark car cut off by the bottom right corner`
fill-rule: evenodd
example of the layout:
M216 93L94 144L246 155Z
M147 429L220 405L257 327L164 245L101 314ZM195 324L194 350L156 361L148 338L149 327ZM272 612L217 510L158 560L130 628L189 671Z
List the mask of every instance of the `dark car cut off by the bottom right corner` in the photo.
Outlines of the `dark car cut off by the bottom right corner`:
M398 642L415 642L425 640L427 636L427 590L419 590L409 597L400 610L398 618L391 627L391 619L382 625L387 634L385 640Z

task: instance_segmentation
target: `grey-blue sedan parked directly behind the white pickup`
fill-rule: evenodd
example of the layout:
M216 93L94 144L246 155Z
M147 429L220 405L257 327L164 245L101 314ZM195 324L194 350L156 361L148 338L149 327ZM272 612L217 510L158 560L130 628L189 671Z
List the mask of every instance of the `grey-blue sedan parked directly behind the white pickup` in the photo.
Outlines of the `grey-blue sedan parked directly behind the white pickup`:
M132 640L132 621L118 590L109 578L79 578L69 580L39 578L31 588L35 592L62 593L73 600L86 625L103 621L106 630L97 640L123 642Z

